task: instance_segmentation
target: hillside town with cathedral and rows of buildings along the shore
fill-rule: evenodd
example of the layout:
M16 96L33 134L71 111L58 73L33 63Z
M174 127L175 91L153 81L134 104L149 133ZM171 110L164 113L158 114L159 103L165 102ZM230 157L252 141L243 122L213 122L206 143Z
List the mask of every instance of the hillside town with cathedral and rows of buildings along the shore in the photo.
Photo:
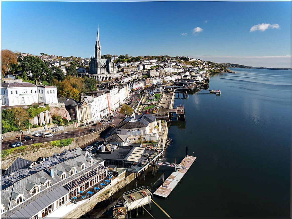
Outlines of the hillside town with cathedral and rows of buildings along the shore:
M1 218L79 218L155 174L167 122L184 117L175 92L227 71L184 56L101 55L99 31L91 58L14 55L2 63Z

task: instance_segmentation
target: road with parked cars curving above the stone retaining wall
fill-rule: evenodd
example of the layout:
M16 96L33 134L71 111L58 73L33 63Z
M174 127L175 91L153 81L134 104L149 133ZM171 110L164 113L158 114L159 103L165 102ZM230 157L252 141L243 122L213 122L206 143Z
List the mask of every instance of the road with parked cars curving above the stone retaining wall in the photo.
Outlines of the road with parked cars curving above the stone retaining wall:
M123 114L120 114L120 115L117 114L114 117L112 117L110 120L113 121L112 124L117 125L124 118L125 118L125 116ZM103 127L106 127L107 122L103 122L103 124L100 123L100 124L95 125L95 126L89 125L89 126L85 126L85 127L78 127L76 129L74 129L74 133L73 133L73 130L67 130L67 131L62 131L62 132L61 131L52 132L54 134L54 136L53 137L48 137L48 138L31 136L32 138L34 138L33 141L32 140L26 140L26 141L21 141L21 142L23 143L23 145L31 145L31 144L35 144L35 143L44 143L44 142L50 142L50 141L61 140L61 139L66 139L66 138L73 138L74 136L75 137L85 136L85 135L88 135L88 134L92 133L92 132L89 132L89 130L91 128L100 130L100 129L102 129L102 125L103 125ZM114 131L114 128L107 129L106 131L103 131L102 133L100 133L100 136L105 137L105 135L107 133L112 133L113 131ZM103 138L97 138L96 140L98 140L98 139L102 140ZM10 145L11 143L17 142L17 141L19 141L18 138L9 138L7 140L4 138L4 140L2 141L1 149L4 150L4 149L11 148L8 145ZM90 144L87 143L86 145L90 145Z

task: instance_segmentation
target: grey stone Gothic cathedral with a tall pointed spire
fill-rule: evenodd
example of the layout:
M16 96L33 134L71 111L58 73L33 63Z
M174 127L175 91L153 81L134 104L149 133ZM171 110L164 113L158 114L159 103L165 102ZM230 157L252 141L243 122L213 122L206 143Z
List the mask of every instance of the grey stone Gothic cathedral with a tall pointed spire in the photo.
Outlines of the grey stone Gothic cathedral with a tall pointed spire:
M97 29L93 58L90 56L89 75L94 77L97 81L111 80L121 76L121 73L118 73L118 68L114 63L114 56L107 59L101 58L99 29Z

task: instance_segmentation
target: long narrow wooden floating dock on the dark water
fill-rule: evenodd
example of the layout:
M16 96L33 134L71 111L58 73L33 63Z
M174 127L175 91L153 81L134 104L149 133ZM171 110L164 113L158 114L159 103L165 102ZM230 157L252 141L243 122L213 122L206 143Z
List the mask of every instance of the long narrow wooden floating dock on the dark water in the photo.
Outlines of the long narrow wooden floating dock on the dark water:
M179 169L176 172L172 172L172 174L162 183L162 186L160 186L153 194L167 198L168 195L170 195L172 190L178 185L180 180L187 173L187 171L189 170L189 168L195 162L196 159L197 157L187 155L180 163L180 165L184 166L185 168Z

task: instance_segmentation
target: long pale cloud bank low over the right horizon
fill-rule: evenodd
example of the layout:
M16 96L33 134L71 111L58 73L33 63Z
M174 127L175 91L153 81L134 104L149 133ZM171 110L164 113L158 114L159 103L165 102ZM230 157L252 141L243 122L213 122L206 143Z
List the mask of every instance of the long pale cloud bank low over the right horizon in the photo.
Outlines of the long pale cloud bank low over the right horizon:
M192 58L210 60L219 63L235 63L253 67L291 68L291 56L204 56L190 55Z

